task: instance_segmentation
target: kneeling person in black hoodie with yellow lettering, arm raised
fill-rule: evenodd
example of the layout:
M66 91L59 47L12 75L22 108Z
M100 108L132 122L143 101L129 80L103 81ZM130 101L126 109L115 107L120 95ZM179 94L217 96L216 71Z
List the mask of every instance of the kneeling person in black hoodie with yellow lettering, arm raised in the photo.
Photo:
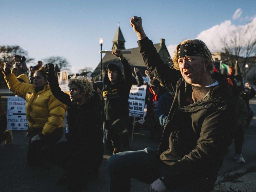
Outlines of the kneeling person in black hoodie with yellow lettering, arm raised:
M113 154L120 152L120 134L129 124L129 94L132 87L132 70L119 49L112 51L123 65L124 76L119 66L110 63L103 81L102 99L106 127L106 147Z

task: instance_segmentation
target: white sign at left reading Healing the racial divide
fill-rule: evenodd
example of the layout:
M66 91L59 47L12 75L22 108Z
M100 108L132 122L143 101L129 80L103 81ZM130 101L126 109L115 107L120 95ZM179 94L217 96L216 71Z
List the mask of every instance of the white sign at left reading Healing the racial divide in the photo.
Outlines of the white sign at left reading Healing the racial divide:
M9 96L7 99L7 129L27 130L28 122L25 111L26 100Z

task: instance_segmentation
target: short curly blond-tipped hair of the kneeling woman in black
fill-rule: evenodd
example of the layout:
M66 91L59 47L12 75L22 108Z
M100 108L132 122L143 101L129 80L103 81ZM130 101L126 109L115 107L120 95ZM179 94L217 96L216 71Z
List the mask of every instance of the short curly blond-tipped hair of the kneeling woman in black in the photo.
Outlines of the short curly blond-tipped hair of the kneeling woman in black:
M75 78L71 78L68 80L68 87L70 88L73 83L76 83L83 89L83 91L86 93L86 100L93 96L93 83L88 77L77 76Z

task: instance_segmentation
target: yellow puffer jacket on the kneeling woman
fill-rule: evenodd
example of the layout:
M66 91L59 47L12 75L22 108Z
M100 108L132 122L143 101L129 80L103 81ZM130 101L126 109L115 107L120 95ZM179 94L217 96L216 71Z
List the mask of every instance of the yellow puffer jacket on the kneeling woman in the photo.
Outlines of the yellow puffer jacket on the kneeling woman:
M42 134L47 136L62 126L66 105L53 96L49 85L36 93L34 84L19 82L13 73L4 78L9 89L27 101L26 118L30 131L43 129Z

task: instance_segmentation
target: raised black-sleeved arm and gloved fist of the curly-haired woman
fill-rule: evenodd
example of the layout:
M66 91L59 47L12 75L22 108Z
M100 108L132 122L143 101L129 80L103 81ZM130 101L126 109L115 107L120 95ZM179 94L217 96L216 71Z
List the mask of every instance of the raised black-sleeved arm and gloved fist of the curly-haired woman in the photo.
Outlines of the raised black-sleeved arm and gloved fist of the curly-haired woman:
M58 79L55 76L54 65L51 63L47 63L45 65L46 78L49 83L52 94L56 99L58 99L61 103L64 103L67 106L71 105L70 97L67 93L61 91L59 87Z

